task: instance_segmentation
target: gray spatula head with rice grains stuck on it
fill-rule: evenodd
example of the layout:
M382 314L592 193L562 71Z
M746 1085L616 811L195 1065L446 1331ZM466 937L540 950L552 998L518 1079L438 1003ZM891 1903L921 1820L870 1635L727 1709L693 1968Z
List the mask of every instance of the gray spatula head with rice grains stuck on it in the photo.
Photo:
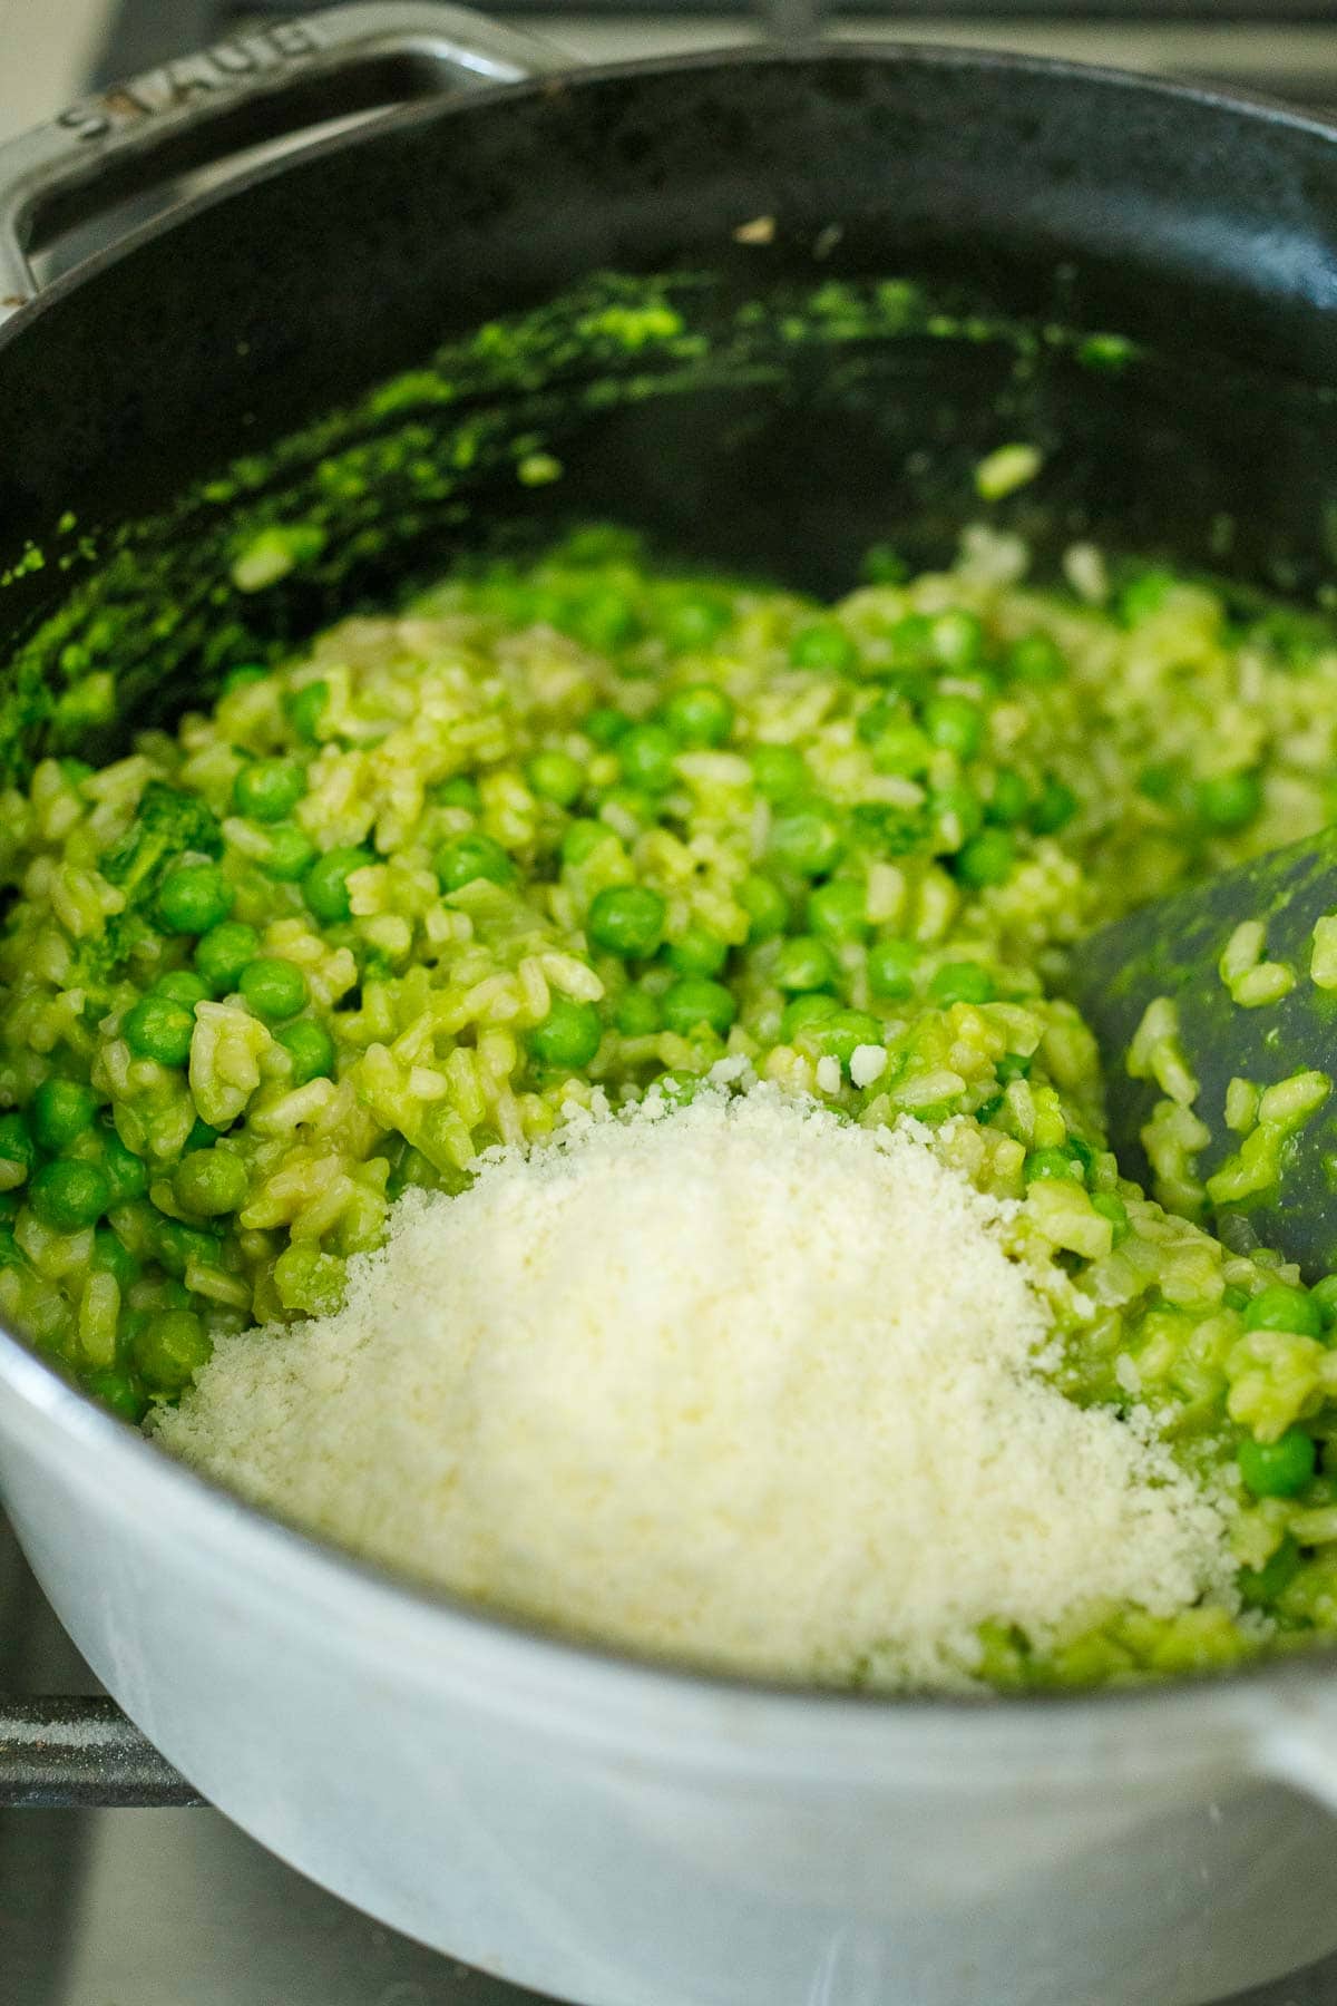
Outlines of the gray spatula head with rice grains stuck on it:
M1110 1147L1121 1167L1151 1188L1143 1131L1157 1103L1175 1097L1167 1083L1181 1101L1187 1095L1173 1047L1147 1029L1133 1057L1135 1067L1151 1063L1153 1077L1129 1077L1129 1051L1147 1007L1169 997L1173 1013L1161 1007L1151 1031L1177 1031L1185 1067L1197 1079L1191 1111L1209 1141L1195 1155L1195 1176L1209 1188L1207 1220L1237 1252L1279 1248L1309 1282L1337 1270L1337 989L1321 987L1329 973L1323 949L1315 981L1315 925L1329 915L1337 915L1337 828L1102 927L1074 951L1066 985L1100 1043ZM1261 923L1261 941L1257 929L1253 939L1241 937L1243 923ZM1263 1001L1241 1007L1233 999L1221 975L1227 947L1235 995ZM1241 979L1255 953L1263 973ZM1329 959L1337 963L1331 949ZM1317 1107L1317 1081L1283 1085L1313 1071L1333 1081ZM1231 1091L1231 1081L1247 1081L1261 1095ZM1263 1097L1269 1087L1277 1091ZM1305 1105L1313 1111L1301 1119Z

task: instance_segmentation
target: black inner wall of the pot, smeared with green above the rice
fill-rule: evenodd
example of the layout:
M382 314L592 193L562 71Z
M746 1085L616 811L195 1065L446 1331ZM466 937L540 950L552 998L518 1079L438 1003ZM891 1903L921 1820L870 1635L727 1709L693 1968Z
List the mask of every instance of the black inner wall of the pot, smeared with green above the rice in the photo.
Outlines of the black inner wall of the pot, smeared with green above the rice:
M820 594L990 520L1042 568L1086 538L1323 604L1335 237L1327 130L992 56L419 106L6 331L0 750L106 748L591 518ZM1018 439L1044 469L984 508L974 465ZM239 588L275 534L287 570Z

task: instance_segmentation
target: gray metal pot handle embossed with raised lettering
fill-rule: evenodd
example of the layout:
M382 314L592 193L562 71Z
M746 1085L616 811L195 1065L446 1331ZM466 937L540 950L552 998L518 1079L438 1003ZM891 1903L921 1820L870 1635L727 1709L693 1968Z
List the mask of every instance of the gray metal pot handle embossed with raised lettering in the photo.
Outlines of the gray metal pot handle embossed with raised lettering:
M365 0L112 84L0 146L0 325L40 291L28 255L44 233L311 124L565 66L535 36L467 8Z

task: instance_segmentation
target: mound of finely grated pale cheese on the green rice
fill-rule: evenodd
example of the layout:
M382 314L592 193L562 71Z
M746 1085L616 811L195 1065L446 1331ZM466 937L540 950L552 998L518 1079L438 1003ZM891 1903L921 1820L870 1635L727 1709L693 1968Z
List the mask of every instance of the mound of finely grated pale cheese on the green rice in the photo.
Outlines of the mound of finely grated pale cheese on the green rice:
M651 1095L407 1194L343 1310L225 1338L158 1438L567 1633L968 1685L986 1619L1042 1639L1231 1573L1149 1422L1044 1380L1006 1222L914 1123Z

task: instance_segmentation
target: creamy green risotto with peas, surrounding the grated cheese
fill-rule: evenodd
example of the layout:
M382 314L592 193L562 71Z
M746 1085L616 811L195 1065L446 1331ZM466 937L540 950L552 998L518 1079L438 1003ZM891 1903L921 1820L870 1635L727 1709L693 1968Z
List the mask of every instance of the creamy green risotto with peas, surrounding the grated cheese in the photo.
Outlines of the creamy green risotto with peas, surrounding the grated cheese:
M1024 1200L1064 1392L1151 1408L1237 1507L1239 1605L986 1631L996 1683L1333 1631L1337 1288L1205 1230L1329 1083L1239 1081L1205 1190L1165 999L1145 1196L1060 987L1100 921L1333 818L1337 646L1163 572L1028 590L1002 540L870 572L826 608L587 532L42 762L0 810L0 1312L144 1420L220 1332L337 1304L409 1186L742 1055L868 1125L970 1117L944 1147ZM1247 1007L1311 977L1227 959Z

